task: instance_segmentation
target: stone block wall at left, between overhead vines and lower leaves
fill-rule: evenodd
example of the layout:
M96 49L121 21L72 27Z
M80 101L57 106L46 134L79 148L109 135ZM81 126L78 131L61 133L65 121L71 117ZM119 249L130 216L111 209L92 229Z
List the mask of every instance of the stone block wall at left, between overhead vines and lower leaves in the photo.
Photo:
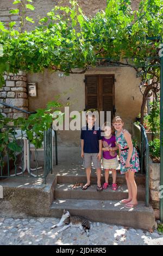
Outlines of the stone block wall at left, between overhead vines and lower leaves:
M26 73L19 71L18 74L5 74L5 84L0 88L0 103L5 102L9 105L28 111L27 77ZM0 104L0 111L4 117L8 118L27 118L28 114Z

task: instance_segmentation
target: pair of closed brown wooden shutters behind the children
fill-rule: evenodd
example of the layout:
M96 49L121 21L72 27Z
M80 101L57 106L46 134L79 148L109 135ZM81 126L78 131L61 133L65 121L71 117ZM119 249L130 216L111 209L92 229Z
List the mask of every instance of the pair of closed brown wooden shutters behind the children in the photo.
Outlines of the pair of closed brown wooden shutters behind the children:
M115 115L114 75L85 76L85 110L111 111L111 119Z

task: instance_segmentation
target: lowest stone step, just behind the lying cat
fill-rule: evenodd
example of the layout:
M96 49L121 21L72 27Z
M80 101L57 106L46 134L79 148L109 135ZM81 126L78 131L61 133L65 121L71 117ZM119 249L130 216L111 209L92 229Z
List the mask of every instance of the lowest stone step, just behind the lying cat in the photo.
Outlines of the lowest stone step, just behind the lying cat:
M147 208L144 202L139 202L136 208L127 209L118 201L60 198L53 201L51 216L61 217L64 209L70 211L71 215L108 224L147 230L153 228L155 224L152 206Z

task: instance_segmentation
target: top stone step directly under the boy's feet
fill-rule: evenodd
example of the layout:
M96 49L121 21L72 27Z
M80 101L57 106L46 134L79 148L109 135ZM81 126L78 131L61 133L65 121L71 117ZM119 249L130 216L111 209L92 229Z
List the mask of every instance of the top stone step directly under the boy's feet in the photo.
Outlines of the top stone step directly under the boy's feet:
M143 174L135 174L135 181L137 185L145 185L146 182L146 176ZM86 173L83 170L83 172L73 173L73 172L63 172L63 173L57 173L57 183L86 183ZM105 182L104 174L102 174L101 178L102 184ZM120 184L126 184L126 178L124 174L120 174L117 172L117 183ZM109 183L112 183L112 175L109 175ZM97 184L97 176L95 172L91 174L91 184Z

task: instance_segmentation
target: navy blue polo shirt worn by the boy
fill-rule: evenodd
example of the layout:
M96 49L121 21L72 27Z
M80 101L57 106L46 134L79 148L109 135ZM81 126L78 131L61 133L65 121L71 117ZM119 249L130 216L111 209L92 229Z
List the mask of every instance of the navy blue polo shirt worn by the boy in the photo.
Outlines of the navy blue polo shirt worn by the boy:
M84 139L84 153L98 153L99 140L101 137L101 129L95 125L90 130L88 126L82 127L80 139Z

